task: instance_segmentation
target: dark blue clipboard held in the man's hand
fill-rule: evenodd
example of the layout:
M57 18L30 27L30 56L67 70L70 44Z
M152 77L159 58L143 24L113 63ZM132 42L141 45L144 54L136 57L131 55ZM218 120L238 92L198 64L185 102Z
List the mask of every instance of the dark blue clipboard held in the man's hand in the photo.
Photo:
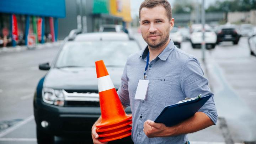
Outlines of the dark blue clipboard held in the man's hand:
M154 122L164 123L165 126L174 126L187 118L192 117L212 95L195 97L183 100L174 105L166 106Z

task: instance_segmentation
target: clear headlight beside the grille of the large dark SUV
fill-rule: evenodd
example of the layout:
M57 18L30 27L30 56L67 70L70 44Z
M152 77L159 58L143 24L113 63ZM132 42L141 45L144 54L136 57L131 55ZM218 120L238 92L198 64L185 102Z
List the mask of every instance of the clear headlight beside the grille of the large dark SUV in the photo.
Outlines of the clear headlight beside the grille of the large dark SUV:
M43 101L56 106L64 106L64 95L62 90L54 90L48 87L43 87Z

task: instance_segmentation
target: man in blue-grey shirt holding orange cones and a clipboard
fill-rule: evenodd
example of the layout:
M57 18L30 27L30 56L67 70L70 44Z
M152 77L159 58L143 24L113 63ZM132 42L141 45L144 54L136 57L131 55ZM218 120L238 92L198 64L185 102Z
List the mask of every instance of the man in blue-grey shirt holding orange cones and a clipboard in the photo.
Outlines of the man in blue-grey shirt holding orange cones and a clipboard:
M166 127L154 119L167 105L186 97L213 95L198 60L174 46L169 32L174 27L171 6L167 0L145 0L139 9L140 30L148 46L129 56L118 95L125 107L132 109L132 140L140 144L186 144L187 133L216 124L217 111L213 96L191 118ZM149 57L149 65L147 65ZM145 71L146 69L146 71ZM145 73L144 73L145 72ZM135 99L140 79L149 80L145 100ZM98 123L101 118L95 122ZM92 139L99 143L95 125Z

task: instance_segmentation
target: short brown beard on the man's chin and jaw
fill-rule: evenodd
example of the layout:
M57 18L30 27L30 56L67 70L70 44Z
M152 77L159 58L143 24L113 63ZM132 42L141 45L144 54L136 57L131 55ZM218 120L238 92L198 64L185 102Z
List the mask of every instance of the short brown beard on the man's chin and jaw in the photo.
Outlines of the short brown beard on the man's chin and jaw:
M148 39L148 36L143 36L143 39L145 40L145 42L148 44L149 47L154 48L154 49L158 49L159 47L166 44L166 42L169 40L169 36L170 36L169 31L170 30L167 31L167 34L165 36L163 34L160 34L160 33L157 33L157 32L148 34L148 35L160 35L160 37L163 36L159 39L159 41L158 40L150 41Z

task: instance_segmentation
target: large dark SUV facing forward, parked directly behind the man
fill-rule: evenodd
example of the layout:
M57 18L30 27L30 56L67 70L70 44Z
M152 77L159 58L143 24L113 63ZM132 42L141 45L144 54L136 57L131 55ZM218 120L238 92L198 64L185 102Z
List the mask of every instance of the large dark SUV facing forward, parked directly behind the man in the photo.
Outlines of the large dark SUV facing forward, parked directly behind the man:
M54 136L91 140L91 127L101 114L95 61L104 60L118 89L126 59L141 49L126 33L78 33L72 31L64 40L51 66L39 65L49 70L33 100L39 144L54 143ZM126 113L131 113L129 107Z

